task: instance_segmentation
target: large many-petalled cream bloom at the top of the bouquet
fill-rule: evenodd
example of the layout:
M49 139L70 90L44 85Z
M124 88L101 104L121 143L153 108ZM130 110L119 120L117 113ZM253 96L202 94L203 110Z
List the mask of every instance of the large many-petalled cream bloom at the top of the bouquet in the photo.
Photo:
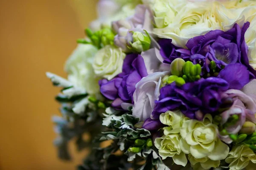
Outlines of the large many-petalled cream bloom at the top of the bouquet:
M172 39L172 43L183 48L186 48L187 41L192 37L205 35L215 29L226 31L235 23L242 26L244 20L253 17L255 12L255 6L237 9L228 5L226 7L218 1L185 2L180 3L182 6L178 4L170 8L168 0L158 1L156 4L162 2L159 8L162 10L154 12L154 34Z

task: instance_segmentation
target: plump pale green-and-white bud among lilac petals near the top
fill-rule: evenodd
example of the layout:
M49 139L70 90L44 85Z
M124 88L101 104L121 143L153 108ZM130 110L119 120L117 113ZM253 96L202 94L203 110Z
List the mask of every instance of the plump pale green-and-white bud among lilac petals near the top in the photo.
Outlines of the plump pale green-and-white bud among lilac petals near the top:
M151 38L146 32L143 34L142 32L134 32L133 35L133 43L130 42L131 48L136 52L143 52L150 49Z

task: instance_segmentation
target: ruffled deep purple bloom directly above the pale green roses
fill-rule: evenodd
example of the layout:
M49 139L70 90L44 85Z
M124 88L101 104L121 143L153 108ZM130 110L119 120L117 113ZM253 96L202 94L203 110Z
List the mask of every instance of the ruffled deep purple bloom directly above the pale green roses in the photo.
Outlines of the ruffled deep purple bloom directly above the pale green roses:
M180 87L175 83L169 84L160 89L160 97L151 118L158 119L161 113L177 108L192 119L197 118L195 112L198 110L204 114L215 112L222 104L222 93L227 89L227 81L214 77L202 78Z

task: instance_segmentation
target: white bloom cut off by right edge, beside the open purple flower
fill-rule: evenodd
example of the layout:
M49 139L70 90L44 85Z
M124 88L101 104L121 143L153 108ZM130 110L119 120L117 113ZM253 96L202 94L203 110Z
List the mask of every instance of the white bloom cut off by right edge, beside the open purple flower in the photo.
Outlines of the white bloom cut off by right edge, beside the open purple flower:
M250 22L250 27L245 32L244 38L249 47L248 58L250 66L256 69L256 17Z

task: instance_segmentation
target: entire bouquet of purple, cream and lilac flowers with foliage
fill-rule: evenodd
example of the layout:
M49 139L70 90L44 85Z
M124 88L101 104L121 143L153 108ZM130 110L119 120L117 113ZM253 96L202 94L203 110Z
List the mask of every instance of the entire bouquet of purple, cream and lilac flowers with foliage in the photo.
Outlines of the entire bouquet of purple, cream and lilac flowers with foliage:
M101 0L53 118L79 170L254 170L256 1ZM83 138L91 135L90 140ZM111 141L99 147L102 141Z

